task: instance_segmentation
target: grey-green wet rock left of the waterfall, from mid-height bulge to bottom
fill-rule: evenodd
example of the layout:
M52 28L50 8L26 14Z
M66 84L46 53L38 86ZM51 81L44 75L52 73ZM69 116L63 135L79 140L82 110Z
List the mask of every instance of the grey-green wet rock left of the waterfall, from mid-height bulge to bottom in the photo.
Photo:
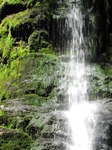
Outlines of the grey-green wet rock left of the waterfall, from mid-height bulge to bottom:
M67 137L66 119L57 111L63 100L55 96L62 76L59 66L61 69L60 60L54 54L30 54L22 66L19 84L16 87L11 84L10 98L2 100L0 126L27 134L32 139L31 149L64 147L60 141Z

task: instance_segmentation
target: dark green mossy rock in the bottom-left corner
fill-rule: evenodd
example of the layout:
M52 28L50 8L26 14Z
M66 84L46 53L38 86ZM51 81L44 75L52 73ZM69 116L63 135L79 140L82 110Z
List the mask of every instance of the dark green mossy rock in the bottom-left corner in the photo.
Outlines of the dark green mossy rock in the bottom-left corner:
M0 128L0 149L30 150L30 146L31 138L27 134L18 130Z

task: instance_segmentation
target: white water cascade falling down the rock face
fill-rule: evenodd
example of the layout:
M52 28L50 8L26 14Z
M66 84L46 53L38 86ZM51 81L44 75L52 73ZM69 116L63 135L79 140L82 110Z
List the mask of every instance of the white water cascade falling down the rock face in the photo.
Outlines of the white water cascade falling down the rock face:
M69 101L69 110L65 114L71 130L72 144L67 150L92 150L96 106L89 102L87 71L90 67L85 62L86 55L90 55L90 51L83 36L83 16L78 2L68 0L68 5L66 25L71 31L71 39L68 42L69 62L65 65Z

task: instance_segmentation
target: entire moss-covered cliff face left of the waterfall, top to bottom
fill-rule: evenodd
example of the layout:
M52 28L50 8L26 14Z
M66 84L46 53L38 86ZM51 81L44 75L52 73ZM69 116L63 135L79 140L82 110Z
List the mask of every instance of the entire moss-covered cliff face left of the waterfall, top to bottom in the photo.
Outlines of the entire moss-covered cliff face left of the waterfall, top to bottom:
M48 139L54 136L56 117L50 105L54 104L61 74L50 24L58 6L58 0L0 2L2 150L53 147ZM39 138L41 144L36 141Z

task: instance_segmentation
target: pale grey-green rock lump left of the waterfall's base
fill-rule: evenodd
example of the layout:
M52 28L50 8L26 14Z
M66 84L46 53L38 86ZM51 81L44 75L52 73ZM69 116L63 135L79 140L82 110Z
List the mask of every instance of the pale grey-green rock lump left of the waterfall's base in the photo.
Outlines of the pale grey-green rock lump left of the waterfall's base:
M34 138L53 138L56 123L56 117L50 112L35 113L35 117L32 117L26 130L27 133Z

